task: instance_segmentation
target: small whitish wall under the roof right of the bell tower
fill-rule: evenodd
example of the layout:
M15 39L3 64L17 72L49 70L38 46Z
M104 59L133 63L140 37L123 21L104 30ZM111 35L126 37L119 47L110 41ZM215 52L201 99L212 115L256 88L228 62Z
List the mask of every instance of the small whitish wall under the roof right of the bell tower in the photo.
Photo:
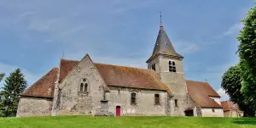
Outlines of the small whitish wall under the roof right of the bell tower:
M223 109L214 109L212 112L211 108L202 108L201 114L202 117L224 117Z

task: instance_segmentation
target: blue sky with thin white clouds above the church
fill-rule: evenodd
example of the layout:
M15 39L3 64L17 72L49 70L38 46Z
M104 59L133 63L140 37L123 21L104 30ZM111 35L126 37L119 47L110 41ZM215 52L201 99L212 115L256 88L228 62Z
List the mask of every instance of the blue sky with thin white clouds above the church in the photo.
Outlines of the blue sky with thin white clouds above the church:
M160 27L183 55L185 78L207 81L237 64L236 36L253 0L0 0L0 72L20 68L29 85L60 58L147 68ZM0 86L3 86L3 81Z

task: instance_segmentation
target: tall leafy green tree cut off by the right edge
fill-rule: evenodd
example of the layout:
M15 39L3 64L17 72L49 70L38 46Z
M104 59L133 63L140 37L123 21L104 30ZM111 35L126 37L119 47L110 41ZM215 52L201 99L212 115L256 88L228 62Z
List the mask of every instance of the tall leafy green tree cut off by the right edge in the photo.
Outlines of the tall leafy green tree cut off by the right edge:
M244 27L237 37L240 42L241 92L245 101L256 109L256 7L251 8L241 22Z

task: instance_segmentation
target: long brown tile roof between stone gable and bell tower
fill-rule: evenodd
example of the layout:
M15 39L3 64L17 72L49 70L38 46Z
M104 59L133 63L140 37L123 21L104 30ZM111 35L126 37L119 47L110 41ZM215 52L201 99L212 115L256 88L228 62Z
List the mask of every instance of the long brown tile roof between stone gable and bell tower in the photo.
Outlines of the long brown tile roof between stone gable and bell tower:
M167 91L170 89L163 84L154 70L146 70L111 64L96 64L108 86L123 86Z

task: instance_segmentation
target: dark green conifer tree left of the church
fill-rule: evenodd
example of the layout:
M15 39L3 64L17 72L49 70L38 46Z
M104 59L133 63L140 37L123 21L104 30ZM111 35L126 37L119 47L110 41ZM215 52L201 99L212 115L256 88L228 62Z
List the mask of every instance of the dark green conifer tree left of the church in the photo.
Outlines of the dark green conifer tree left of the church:
M18 95L26 89L26 80L20 69L15 70L6 78L2 89L0 115L15 116L19 103Z

